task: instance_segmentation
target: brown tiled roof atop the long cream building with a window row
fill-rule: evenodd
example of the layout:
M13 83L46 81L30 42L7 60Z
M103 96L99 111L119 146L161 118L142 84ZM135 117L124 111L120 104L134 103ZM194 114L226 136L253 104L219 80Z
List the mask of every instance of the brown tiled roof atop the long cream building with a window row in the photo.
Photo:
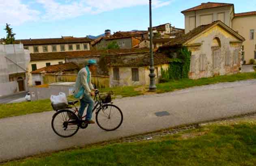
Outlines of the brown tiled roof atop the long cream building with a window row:
M19 44L20 42L24 46L28 45L44 45L44 44L69 44L69 43L85 43L91 42L90 38L45 38L45 39L22 39L15 40L15 44Z

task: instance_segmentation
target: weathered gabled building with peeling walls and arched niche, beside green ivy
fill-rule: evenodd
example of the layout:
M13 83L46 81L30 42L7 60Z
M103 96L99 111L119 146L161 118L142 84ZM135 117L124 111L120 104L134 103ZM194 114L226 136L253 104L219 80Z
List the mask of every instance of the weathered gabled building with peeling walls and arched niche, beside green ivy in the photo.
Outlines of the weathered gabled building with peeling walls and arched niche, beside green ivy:
M170 50L175 57L177 48L187 47L191 51L189 78L198 79L238 73L244 40L222 21L214 21L174 38L159 51Z

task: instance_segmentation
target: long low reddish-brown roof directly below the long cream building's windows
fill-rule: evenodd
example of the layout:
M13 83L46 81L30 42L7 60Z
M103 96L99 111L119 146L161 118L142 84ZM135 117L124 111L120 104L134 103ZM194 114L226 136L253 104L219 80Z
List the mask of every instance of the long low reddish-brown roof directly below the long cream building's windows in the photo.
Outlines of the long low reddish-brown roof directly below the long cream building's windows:
M111 50L88 50L88 51L67 51L67 52L52 52L52 53L34 53L30 54L30 61L43 61L54 59L65 59L67 57L88 57L96 55L109 54L127 54L149 52L148 48L131 48L131 49L111 49Z

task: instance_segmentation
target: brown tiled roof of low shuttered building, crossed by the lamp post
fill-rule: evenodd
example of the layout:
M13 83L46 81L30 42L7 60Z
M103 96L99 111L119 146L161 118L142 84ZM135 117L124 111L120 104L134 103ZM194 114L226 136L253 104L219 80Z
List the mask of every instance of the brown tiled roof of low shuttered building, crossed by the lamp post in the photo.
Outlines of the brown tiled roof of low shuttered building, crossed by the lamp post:
M164 53L154 53L154 64L161 65L170 62L170 58ZM122 61L118 63L109 62L110 67L140 67L150 65L150 53L146 53L144 56L129 59L129 61Z

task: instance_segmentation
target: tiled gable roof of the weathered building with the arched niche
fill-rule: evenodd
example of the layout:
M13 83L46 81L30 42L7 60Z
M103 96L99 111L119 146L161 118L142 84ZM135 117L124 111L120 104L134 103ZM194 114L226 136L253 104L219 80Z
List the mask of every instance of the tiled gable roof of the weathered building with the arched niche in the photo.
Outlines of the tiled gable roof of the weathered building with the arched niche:
M182 44L184 44L185 42L187 42L188 40L190 40L191 38L197 36L198 34L204 32L205 30L207 30L210 27L213 27L215 25L221 25L222 27L228 29L228 31L232 32L235 36L237 36L237 38L239 38L241 41L244 41L245 38L243 38L243 36L239 35L237 32L235 32L233 29L231 29L230 27L228 27L227 25L225 25L224 23L222 23L222 21L214 21L213 23L207 24L207 25L201 25L199 27L196 27L195 29L191 30L189 33L183 35L183 36L179 36L176 38L172 38L170 40L170 42L168 42L167 44L164 44L163 47L168 47L168 46L182 46Z

